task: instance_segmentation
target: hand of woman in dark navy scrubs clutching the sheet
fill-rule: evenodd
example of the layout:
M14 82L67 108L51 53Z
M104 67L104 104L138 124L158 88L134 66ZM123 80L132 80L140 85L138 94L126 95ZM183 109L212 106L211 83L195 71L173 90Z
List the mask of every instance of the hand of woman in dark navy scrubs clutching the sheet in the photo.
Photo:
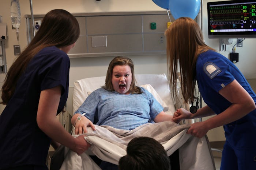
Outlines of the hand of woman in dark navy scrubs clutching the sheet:
M80 135L75 138L75 143L72 148L70 148L72 151L76 152L78 155L81 155L84 151L88 150L88 148L91 146L90 143L88 143L84 139L85 135Z

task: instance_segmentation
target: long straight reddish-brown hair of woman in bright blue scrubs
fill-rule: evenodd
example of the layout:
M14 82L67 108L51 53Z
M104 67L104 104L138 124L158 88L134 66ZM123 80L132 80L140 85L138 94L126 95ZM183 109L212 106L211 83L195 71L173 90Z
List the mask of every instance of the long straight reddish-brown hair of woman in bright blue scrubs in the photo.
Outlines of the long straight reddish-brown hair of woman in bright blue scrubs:
M204 44L199 25L189 17L180 17L165 31L167 39L167 76L173 95L177 92L178 72L184 101L193 100L197 56L214 50ZM174 96L173 96L174 97Z

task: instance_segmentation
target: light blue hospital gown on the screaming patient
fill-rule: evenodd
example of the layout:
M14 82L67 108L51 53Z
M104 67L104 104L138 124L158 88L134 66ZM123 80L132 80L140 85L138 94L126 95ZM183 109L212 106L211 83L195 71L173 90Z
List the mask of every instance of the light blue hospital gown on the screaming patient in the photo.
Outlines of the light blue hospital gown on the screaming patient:
M132 130L145 123L154 123L163 107L142 88L142 94L119 94L102 87L93 91L74 114L83 114L94 124Z

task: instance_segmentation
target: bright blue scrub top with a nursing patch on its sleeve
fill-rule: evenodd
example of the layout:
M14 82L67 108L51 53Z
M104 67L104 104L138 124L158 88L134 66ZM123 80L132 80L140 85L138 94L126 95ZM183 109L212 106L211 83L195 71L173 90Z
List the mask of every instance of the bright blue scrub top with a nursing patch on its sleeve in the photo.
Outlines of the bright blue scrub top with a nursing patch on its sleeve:
M220 114L232 104L219 94L219 90L234 79L256 102L256 95L250 84L229 59L212 50L198 56L196 62L197 85L204 102L216 114ZM254 146L256 142L256 110L235 122L224 125L224 130L226 139L232 146Z

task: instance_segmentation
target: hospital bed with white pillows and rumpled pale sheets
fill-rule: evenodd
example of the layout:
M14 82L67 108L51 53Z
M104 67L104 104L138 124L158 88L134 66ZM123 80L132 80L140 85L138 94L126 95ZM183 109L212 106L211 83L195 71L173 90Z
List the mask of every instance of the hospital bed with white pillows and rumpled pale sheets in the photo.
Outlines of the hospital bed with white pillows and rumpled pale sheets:
M146 88L163 106L167 114L180 107L188 107L182 100L182 95L173 99L165 74L135 75L137 85ZM91 92L105 84L105 76L80 79L74 82L73 112L84 102ZM63 147L64 161L61 170L93 169L100 170L89 155L96 155L103 161L118 164L118 160L126 154L126 146L131 138L143 135L157 139L165 148L168 155L179 150L180 170L215 170L214 159L207 136L196 138L186 134L191 122L178 125L173 122L162 122L138 127L132 131L117 130L111 127L97 126L97 131L88 128L87 142L92 146L82 155ZM157 129L158 131L155 131ZM159 133L161 129L161 133ZM139 131L139 134L138 134ZM116 135L118 134L118 135ZM124 135L125 134L125 135ZM128 135L127 135L128 134ZM159 137L161 134L161 137ZM73 134L74 135L74 134ZM164 136L163 136L164 135ZM75 136L75 135L74 135ZM117 137L118 136L118 137ZM120 138L121 136L121 138ZM60 155L55 155L58 157ZM63 157L63 155L62 155ZM51 163L52 166L52 163Z

